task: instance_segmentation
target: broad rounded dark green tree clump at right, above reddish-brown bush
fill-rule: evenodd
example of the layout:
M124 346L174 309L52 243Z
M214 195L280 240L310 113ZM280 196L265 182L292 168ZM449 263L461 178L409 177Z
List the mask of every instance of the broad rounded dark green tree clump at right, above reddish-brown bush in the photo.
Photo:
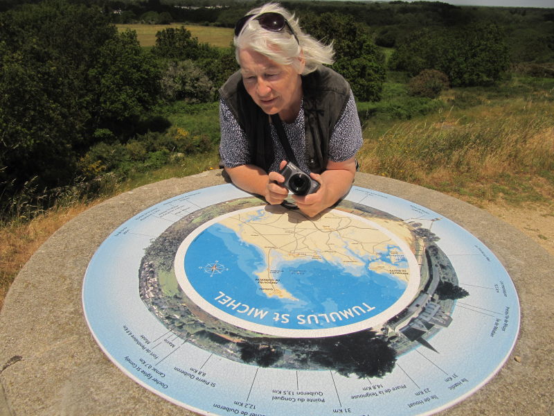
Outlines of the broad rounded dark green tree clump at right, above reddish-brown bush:
M508 69L506 37L496 24L425 28L398 46L389 66L414 76L423 69L436 69L454 86L488 85Z

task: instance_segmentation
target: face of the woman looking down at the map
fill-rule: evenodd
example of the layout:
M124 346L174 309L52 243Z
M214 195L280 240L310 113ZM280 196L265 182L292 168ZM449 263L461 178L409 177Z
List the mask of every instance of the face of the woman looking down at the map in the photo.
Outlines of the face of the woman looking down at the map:
M303 60L295 69L251 49L241 49L239 60L242 82L253 101L266 114L279 114L285 121L294 121L302 99Z

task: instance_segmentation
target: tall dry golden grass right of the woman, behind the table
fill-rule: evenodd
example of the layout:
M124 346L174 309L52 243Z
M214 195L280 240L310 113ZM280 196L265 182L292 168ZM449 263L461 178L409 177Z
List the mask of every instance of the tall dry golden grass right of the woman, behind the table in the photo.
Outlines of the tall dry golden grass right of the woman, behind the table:
M393 177L470 202L554 199L554 103L510 101L366 131L367 173Z

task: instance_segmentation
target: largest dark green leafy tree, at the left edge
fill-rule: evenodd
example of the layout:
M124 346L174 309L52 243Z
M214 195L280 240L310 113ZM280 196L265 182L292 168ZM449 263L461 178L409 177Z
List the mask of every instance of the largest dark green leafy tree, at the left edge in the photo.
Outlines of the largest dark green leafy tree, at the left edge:
M152 61L95 8L24 5L0 15L0 39L0 183L13 190L69 183L96 130L127 131L156 101Z

